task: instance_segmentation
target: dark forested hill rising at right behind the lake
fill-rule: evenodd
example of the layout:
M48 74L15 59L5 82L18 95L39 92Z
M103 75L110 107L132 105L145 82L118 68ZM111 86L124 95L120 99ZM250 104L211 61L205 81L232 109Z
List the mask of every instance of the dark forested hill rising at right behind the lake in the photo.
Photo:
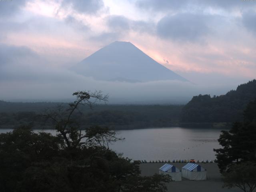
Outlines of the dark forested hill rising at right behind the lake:
M242 121L246 105L256 98L256 80L241 84L226 95L194 96L182 109L182 122Z

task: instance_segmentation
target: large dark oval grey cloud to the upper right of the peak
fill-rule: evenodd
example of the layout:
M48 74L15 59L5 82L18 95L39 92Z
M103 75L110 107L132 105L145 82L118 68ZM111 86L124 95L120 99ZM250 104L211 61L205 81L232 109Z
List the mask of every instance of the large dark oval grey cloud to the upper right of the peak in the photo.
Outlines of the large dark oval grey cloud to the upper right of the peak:
M165 16L157 24L157 34L172 40L196 41L210 32L207 16L196 14L175 14Z

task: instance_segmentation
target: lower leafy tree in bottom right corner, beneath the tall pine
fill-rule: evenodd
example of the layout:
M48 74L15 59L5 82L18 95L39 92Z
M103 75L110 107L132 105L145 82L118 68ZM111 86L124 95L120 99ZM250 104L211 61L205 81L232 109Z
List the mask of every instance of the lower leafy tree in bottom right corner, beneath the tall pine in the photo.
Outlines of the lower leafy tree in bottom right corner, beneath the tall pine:
M232 165L230 172L224 174L224 188L238 187L244 192L256 188L256 164L245 162Z

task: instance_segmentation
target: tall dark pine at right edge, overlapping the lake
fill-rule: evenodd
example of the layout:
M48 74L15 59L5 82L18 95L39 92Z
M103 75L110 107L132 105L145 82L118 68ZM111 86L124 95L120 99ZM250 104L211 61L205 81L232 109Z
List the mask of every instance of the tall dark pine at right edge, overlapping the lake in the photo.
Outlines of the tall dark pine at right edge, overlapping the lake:
M234 163L256 161L256 100L244 111L244 122L235 122L229 131L222 131L214 149L220 172L226 172Z

